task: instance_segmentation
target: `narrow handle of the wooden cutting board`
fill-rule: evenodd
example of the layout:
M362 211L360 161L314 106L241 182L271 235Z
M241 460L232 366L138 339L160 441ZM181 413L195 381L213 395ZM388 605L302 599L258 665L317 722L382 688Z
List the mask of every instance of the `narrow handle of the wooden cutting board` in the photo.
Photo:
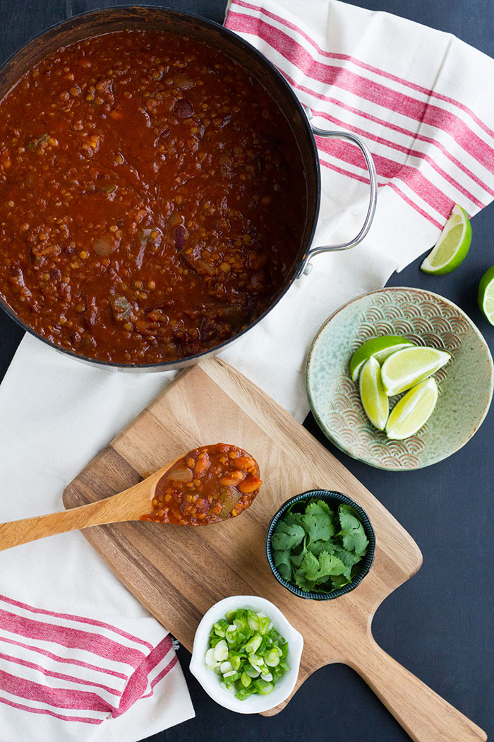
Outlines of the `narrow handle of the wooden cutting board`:
M484 742L486 733L408 672L370 632L348 662L373 689L414 742Z

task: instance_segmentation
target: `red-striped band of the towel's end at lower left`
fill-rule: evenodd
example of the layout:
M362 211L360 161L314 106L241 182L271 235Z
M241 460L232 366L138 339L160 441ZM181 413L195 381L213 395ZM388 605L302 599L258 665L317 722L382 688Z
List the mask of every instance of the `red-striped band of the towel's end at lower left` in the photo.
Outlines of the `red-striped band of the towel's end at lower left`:
M66 721L119 717L177 662L168 634L156 646L99 620L33 608L0 595L0 702Z

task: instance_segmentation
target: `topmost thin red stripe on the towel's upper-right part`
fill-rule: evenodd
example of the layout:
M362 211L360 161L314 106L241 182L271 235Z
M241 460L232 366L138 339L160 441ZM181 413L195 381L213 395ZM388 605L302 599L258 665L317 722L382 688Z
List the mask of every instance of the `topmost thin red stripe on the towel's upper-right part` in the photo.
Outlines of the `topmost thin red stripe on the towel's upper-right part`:
M259 7L258 5L253 5L251 3L242 2L242 0L234 0L234 5L239 5L241 7L250 8L250 10L255 10L259 13L262 13L264 16L267 16L267 18L271 18L275 21L278 21L279 23L283 24L287 28L291 28L296 33L299 33L302 38L304 38L307 42L310 43L310 45L319 53L321 56L326 56L328 59L341 59L343 62L351 62L353 65L356 65L357 67L361 67L364 70L369 70L370 72L373 72L377 75L380 75L384 78L387 78L389 80L393 80L393 82L398 82L399 85L404 85L404 87L410 88L410 90L414 90L418 93L422 93L423 95L427 95L429 97L437 98L438 100L442 100L444 102L450 103L451 105L455 105L457 108L459 108L461 111L464 111L464 113L468 114L470 118L481 127L483 131L486 132L486 134L489 134L490 137L494 138L494 131L490 129L481 119L478 118L478 116L472 111L471 108L468 108L467 105L464 105L464 103L461 103L460 101L456 100L455 98L451 98L450 96L442 95L441 93L436 93L433 90L430 90L429 88L424 88L423 85L418 85L415 82L411 82L410 80L404 79L404 77L398 77L396 75L393 75L390 72L387 72L387 70L382 70L378 67L375 67L374 65L369 65L367 62L362 62L361 59L357 59L354 56L350 56L349 54L340 54L337 52L329 52L324 49L322 49L316 42L310 38L310 36L307 35L307 33L304 33L303 30L301 30L300 27L296 26L293 23L290 23L287 21L287 19L282 18L281 16L276 16L275 13L270 13L269 10L266 10L263 7ZM229 13L230 15L230 13ZM225 26L228 26L228 17L225 22Z

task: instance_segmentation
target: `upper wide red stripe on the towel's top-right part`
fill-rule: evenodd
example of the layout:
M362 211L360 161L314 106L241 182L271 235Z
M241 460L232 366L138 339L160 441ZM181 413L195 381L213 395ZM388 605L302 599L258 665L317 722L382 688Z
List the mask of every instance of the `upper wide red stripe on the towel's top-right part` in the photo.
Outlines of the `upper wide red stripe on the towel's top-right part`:
M494 149L487 145L487 142L483 142L458 116L450 111L418 101L345 68L317 62L304 47L298 44L296 39L293 39L293 36L289 36L260 18L236 13L233 10L230 10L229 19L230 16L233 16L233 23L229 23L231 30L251 33L263 39L290 64L301 70L305 76L322 82L324 85L334 85L341 90L369 100L374 105L446 131L471 157L480 162L488 171L494 171Z

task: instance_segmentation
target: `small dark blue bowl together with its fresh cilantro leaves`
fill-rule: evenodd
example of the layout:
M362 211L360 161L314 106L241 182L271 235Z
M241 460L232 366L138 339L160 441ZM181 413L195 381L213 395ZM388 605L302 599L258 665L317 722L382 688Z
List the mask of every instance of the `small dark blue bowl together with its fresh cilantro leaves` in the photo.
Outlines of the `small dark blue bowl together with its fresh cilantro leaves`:
M370 570L374 547L367 513L331 490L310 490L285 502L266 539L277 580L312 600L333 600L356 588Z

